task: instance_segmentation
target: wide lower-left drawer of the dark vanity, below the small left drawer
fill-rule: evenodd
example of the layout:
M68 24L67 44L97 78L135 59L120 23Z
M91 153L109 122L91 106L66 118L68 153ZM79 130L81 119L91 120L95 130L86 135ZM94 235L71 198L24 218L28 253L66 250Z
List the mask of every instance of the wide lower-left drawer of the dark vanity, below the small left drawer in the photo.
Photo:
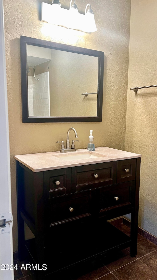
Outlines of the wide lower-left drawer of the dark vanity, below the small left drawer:
M45 202L47 213L49 213L47 223L50 227L67 221L91 216L90 191L47 199Z

